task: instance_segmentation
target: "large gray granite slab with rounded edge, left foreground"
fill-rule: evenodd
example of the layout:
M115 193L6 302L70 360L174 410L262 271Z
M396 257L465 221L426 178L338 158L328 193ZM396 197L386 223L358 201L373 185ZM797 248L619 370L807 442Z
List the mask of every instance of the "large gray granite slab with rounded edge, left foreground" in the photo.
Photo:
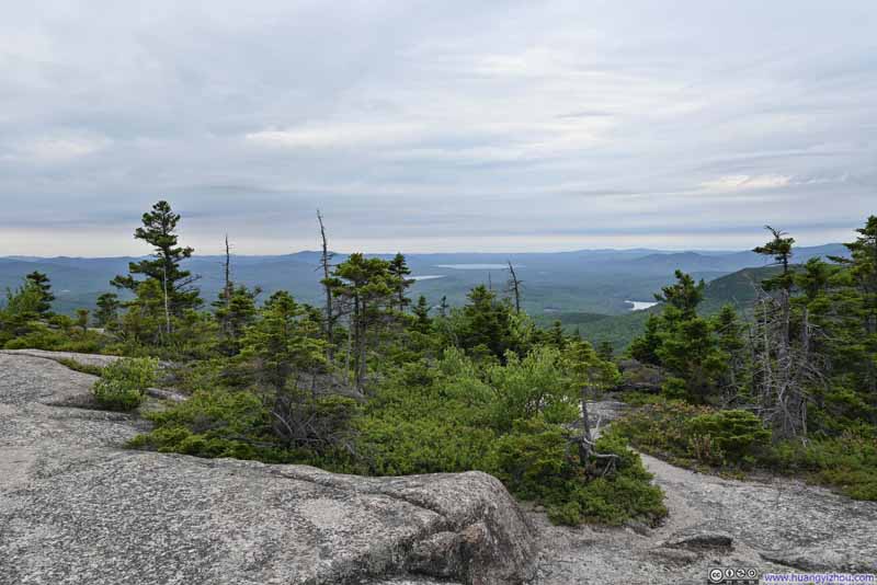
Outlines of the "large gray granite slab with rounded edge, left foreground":
M529 520L480 472L361 478L124 450L94 377L0 353L0 583L522 583Z

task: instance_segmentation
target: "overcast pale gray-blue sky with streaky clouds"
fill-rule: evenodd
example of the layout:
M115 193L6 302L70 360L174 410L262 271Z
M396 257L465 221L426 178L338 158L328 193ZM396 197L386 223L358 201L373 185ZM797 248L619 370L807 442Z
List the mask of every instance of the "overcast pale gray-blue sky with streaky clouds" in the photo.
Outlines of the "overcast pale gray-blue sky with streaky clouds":
M0 255L751 248L877 213L877 2L5 3Z

